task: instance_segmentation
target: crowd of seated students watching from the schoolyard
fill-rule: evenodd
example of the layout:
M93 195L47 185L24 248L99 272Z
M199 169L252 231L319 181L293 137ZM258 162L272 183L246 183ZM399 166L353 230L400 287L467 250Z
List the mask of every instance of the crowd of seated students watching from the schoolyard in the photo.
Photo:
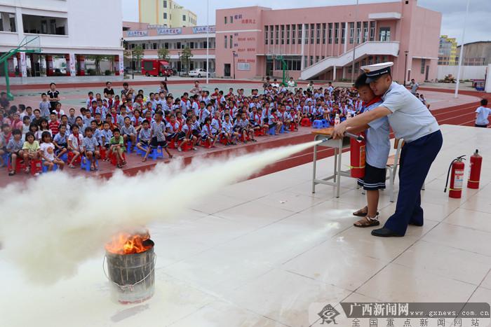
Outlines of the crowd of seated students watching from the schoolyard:
M294 88L267 79L262 90L253 89L250 95L233 88L226 92L215 88L210 93L196 81L178 97L170 94L166 82L148 95L143 90L135 92L128 83L115 94L107 82L102 94L88 92L86 106L65 111L60 92L51 83L37 108L22 104L0 108L0 165L7 165L9 158L10 175L15 174L17 158L25 160L26 171L30 160L42 160L48 169L54 165L62 169L65 162L60 158L71 153L68 167L74 168L84 155L95 170L95 158L105 148L123 167L128 146L130 151L135 147L143 151L142 161L159 146L173 158L169 142L175 143L177 151L184 146L196 150L203 143L214 147L217 141L227 146L254 142L257 134L298 130L304 118L325 119L334 125L361 109L355 88L334 88L332 83L325 88L315 88L314 83Z

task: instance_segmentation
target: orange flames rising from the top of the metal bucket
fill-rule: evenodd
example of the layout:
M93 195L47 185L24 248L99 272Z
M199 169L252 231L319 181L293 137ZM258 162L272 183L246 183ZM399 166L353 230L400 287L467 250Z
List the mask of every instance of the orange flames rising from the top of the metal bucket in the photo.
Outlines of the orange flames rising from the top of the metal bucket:
M105 248L108 252L114 254L142 253L151 249L153 246L151 244L144 244L144 241L149 238L148 230L135 234L120 232L112 237L111 242L107 243Z

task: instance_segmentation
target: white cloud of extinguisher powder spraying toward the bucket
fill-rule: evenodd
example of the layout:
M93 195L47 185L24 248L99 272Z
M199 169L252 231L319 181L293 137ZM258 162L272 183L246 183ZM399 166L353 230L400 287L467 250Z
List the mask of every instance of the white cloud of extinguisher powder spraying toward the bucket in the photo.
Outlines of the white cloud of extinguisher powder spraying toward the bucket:
M236 158L175 161L149 172L100 180L54 172L0 190L0 242L29 281L52 284L76 274L111 236L173 218L189 200L212 195L277 160L314 146L285 146ZM150 231L152 235L152 231Z

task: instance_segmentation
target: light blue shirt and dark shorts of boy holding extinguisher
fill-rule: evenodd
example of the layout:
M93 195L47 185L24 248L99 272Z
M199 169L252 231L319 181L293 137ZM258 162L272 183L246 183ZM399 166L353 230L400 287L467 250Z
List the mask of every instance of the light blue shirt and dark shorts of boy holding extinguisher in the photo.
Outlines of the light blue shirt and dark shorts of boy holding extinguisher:
M382 104L379 97L363 106L364 111L371 111ZM382 117L368 123L365 131L365 176L358 179L358 185L364 190L379 190L385 188L387 158L391 150L389 140L389 119Z

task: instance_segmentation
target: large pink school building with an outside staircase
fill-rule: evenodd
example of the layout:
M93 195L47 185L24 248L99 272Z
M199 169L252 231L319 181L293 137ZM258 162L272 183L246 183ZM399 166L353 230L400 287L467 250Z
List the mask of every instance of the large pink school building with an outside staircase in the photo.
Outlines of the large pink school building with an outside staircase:
M393 61L396 81L404 76L431 80L437 73L440 24L441 14L417 6L417 0L360 4L358 9L220 9L216 76L281 76L285 64L296 79L339 81L351 79L354 56L355 76L364 64Z

